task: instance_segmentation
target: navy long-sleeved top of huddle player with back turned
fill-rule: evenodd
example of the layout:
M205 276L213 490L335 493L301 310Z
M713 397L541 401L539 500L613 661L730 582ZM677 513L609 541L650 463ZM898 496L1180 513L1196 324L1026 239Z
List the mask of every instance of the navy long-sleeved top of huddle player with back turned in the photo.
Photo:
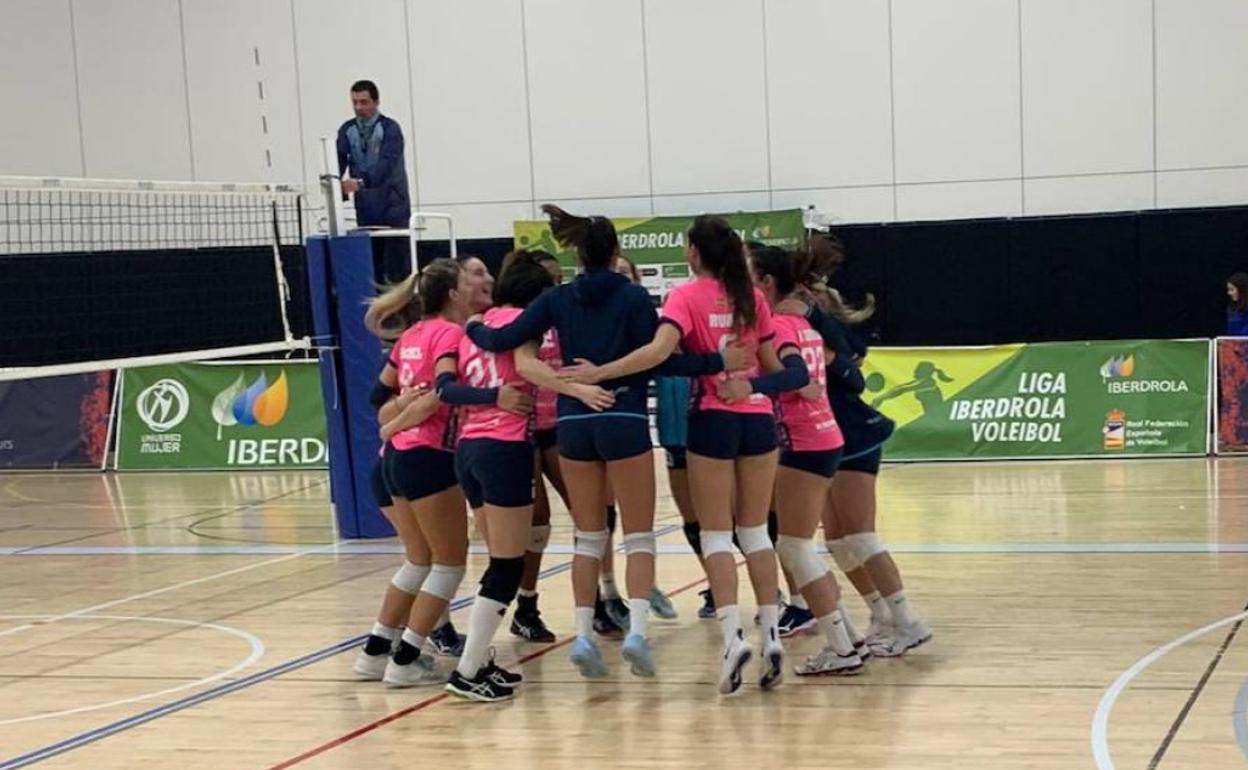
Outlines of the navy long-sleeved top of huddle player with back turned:
M659 316L650 295L628 277L610 270L589 270L569 283L545 291L515 321L498 328L469 323L468 337L484 351L510 351L530 339L540 339L550 327L559 333L563 362L584 358L610 363L654 339ZM659 371L670 374L714 374L724 368L718 353L673 356ZM651 372L639 372L599 383L615 392L608 412L645 414L646 386ZM590 413L574 398L559 396L559 417Z

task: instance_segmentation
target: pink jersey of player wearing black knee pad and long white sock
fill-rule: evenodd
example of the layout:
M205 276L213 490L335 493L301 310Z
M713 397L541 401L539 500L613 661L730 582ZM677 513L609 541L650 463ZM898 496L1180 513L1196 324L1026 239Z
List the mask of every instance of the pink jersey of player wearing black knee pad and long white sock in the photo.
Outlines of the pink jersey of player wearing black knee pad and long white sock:
M482 316L485 326L498 328L515 321L524 312L518 307L492 307ZM459 341L459 378L474 388L499 388L504 384L529 387L515 371L515 353L490 353L472 339ZM492 438L494 441L528 441L529 418L512 414L495 404L463 407L459 438Z

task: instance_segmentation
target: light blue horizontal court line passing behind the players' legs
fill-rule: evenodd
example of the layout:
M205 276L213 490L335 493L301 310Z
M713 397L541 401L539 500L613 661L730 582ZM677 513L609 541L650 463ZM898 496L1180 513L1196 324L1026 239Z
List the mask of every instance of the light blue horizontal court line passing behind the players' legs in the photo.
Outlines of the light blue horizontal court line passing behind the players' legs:
M655 530L670 532L670 530ZM545 553L570 555L572 545L552 544ZM1248 543L890 543L892 553L911 554L1026 554L1026 553L1248 553ZM222 557L222 555L285 555L307 554L321 557L339 555L394 555L402 554L398 543L339 543L336 548L324 545L49 545L44 548L0 547L0 557ZM483 545L473 545L473 554L484 554ZM683 543L659 547L660 554L693 553Z

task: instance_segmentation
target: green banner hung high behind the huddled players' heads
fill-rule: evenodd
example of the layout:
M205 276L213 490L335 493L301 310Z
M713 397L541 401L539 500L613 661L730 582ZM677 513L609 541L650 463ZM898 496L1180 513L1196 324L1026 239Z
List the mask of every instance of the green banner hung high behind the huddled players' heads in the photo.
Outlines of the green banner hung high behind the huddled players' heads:
M794 248L802 242L806 230L801 210L754 211L721 215L745 241L758 241L766 246ZM690 278L685 262L685 231L694 217L619 217L612 220L620 237L620 251L641 273L641 286L651 295L663 297L668 291ZM513 226L515 248L540 248L557 257L564 273L577 272L575 250L560 248L550 235L550 223L518 221Z

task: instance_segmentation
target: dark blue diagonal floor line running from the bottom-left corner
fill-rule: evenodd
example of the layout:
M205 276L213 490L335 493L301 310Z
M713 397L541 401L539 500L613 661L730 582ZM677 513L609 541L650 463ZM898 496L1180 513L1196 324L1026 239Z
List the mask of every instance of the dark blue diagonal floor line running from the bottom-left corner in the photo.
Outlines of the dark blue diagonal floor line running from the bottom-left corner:
M680 529L679 524L671 524L671 525L668 525L668 527L664 527L661 529L655 530L654 537L659 538L659 537L663 537L663 535L669 534L671 532L675 532L678 529ZM619 548L623 549L623 544ZM565 573L565 572L568 572L570 569L572 569L572 562L564 562L563 564L557 564L557 565L550 567L548 569L543 569L540 573L538 573L538 578L550 578L550 577L558 575L560 573ZM461 609L468 607L469 604L472 604L472 599L473 599L472 597L464 597L462 599L456 599L454 602L451 603L451 607L449 607L451 612L461 610ZM262 681L267 681L267 680L273 679L276 676L281 676L282 674L288 674L290 671L295 671L297 669L302 669L305 666L312 665L313 663L317 663L319 660L324 660L326 658L332 658L332 656L338 655L341 653L344 653L347 650L354 649L354 648L359 646L361 644L363 644L364 639L367 639L367 638L368 638L367 634L361 634L358 636L352 636L349 639L343 639L342 641L338 641L338 643L332 644L329 646L326 646L326 648L322 648L319 650L316 650L314 653L308 653L307 655L305 655L302 658L296 658L295 660L287 660L286 663L278 664L278 665L276 665L273 668L270 668L270 669L265 669L263 671L256 671L255 674L251 674L251 675L245 676L242 679L238 679L238 680L235 680L235 681L231 681L231 683L227 683L227 684L217 685L217 686L207 689L207 690L205 690L202 693L197 693L195 695L188 695L186 698L181 698L178 700L175 700L172 703L165 704L162 706L156 706L154 709L149 709L149 710L142 711L140 714L135 714L134 716L127 716L125 719L119 719L117 721L109 723L109 724L102 725L100 728L94 728L94 729L87 730L85 733L80 733L80 734L77 734L77 735L75 735L72 738L67 738L65 740L57 741L55 744L50 744L50 745L44 746L41 749L35 749L34 751L29 751L29 753L22 754L20 756L15 756L12 759L5 760L4 763L0 763L0 770L15 770L16 768L25 768L27 765L32 765L32 764L42 761L45 759L51 759L52 756L56 756L59 754L65 754L66 751L72 751L74 749L80 749L80 748L82 748L82 746L85 746L87 744L92 744L92 743L95 743L97 740L109 738L110 735L116 735L117 733L122 733L122 731L129 730L131 728L137 728L139 725L142 725L142 724L146 724L149 721L160 719L161 716L167 716L167 715L173 714L176 711L181 711L183 709L188 709L191 706L196 706L196 705L198 705L201 703L206 703L208 700L213 700L216 698L221 698L222 695L228 695L230 693L235 693L237 690L242 690L245 688L250 688L253 684L260 684Z

